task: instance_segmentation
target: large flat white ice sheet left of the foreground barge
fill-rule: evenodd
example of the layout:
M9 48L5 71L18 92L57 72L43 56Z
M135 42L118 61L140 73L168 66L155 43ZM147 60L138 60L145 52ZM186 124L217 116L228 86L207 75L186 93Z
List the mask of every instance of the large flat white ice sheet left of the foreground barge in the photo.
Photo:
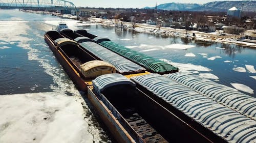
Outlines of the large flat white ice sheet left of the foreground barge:
M0 96L0 142L93 142L76 97L51 93Z

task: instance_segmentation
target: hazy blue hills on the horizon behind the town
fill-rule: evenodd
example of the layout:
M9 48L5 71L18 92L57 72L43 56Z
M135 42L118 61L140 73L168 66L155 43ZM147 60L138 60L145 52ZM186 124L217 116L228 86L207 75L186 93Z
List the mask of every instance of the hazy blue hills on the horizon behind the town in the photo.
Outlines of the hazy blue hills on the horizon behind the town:
M219 11L226 12L232 7L241 9L243 1L223 1L210 2L203 5L199 4L181 4L181 3L167 3L157 6L157 9L174 10L174 11ZM155 7L145 7L145 9L155 9ZM243 11L256 12L256 1L245 1Z

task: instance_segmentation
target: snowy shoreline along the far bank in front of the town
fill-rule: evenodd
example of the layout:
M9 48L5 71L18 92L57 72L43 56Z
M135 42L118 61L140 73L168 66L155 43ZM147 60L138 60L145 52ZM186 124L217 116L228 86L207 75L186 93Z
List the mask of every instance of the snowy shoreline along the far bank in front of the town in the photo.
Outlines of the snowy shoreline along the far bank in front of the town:
M62 18L68 18L75 20L76 16L70 14L59 14L53 12L42 12L42 11L32 11L32 10L23 10L24 12L31 12L37 14L49 14L53 16L58 16ZM139 33L149 33L149 34L159 34L165 35L168 37L185 37L190 38L192 40L200 40L205 42L217 42L223 44L235 44L239 46L245 46L249 48L256 48L256 40L253 42L248 41L241 41L244 39L240 39L242 35L231 35L226 34L225 36L220 36L218 32L214 33L204 33L199 31L186 31L179 28L170 28L170 27L161 27L158 25L147 25L145 23L132 23L132 22L122 22L120 23L116 19L102 19L102 18L87 18L88 21L80 21L80 23L87 23L87 24L100 24L105 27L120 27L126 28L126 30L134 30ZM76 20L79 21L79 20ZM193 36L195 34L196 36Z

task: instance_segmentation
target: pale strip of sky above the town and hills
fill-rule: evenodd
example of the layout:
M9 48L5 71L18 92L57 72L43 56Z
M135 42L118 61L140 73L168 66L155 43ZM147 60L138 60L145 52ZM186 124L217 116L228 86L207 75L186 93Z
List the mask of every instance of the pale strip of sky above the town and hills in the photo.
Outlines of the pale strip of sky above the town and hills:
M208 2L214 2L212 0L67 0L69 2L73 2L77 7L102 7L102 8L144 8L144 7L154 7L157 3L165 4L165 3L197 3L197 4L205 4ZM224 1L224 0L216 0L216 1ZM229 1L239 1L239 0L229 0Z

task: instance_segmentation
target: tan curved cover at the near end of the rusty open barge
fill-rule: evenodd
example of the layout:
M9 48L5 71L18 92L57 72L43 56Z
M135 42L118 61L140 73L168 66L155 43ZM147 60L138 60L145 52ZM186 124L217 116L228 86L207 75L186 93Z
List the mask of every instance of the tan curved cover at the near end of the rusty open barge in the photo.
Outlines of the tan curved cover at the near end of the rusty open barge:
M85 77L97 77L103 74L116 73L115 67L104 61L90 61L80 65L80 70Z

